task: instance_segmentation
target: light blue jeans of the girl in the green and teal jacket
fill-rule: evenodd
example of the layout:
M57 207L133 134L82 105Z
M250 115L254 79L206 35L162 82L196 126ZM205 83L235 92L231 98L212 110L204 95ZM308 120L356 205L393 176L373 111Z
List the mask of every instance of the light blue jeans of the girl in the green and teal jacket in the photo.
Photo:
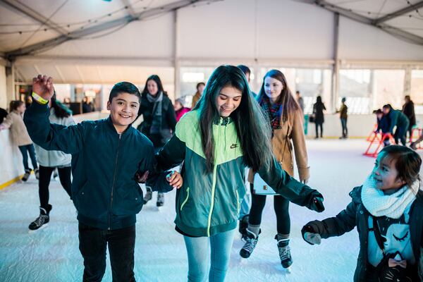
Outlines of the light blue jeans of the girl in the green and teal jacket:
M207 272L209 273L209 282L225 281L234 234L235 229L210 237L183 236L188 253L188 282L206 281Z

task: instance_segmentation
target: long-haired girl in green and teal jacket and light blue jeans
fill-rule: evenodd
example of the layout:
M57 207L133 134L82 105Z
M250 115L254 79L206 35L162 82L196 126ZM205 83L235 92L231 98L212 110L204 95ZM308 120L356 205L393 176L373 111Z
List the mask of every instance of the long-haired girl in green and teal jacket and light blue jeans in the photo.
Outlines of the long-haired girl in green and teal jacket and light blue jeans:
M188 252L188 281L205 281L207 272L209 281L224 281L245 194L245 166L291 202L324 210L317 190L283 171L270 140L269 122L245 75L235 66L219 66L194 110L180 119L157 154L163 170L183 162L175 223Z

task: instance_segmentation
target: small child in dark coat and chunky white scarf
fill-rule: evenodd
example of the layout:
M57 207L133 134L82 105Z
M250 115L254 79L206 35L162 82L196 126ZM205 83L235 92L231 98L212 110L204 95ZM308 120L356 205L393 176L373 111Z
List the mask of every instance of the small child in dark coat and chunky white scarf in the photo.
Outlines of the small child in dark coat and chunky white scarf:
M319 245L357 226L360 252L354 281L422 281L422 159L392 145L379 153L372 173L350 192L352 202L337 216L310 221L302 238Z

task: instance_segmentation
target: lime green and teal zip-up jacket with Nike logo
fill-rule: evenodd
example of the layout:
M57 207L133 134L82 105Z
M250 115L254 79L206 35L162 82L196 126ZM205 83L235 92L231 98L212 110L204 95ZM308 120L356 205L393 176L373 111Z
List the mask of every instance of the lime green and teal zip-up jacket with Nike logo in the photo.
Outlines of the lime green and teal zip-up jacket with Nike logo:
M214 167L207 172L198 114L190 111L180 119L157 161L163 170L183 162L183 186L176 193L177 228L190 236L212 236L236 228L245 195L245 164L235 123L220 118L213 125ZM290 177L276 159L258 173L278 194L300 206L311 208L313 197L322 197Z

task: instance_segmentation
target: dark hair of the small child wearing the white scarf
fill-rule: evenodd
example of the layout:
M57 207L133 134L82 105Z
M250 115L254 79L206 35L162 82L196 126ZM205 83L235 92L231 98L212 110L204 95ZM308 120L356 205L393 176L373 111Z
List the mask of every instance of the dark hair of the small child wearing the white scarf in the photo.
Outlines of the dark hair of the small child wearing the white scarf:
M422 166L422 159L419 154L409 147L400 145L386 146L381 150L386 155L383 159L388 158L388 161L395 161L395 168L398 171L398 178L403 180L408 188L416 180L420 180L419 172Z

